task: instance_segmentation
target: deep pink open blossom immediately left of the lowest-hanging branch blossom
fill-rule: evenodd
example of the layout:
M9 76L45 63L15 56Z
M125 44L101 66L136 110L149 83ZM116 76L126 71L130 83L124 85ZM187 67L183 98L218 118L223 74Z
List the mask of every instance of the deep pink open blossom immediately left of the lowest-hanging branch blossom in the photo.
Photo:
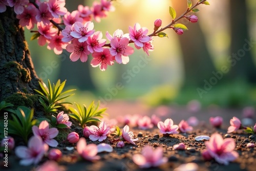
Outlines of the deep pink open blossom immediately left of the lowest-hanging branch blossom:
M91 54L87 49L87 42L79 42L77 39L72 40L72 44L67 45L66 50L70 52L71 61L77 61L78 59L81 62L86 62L88 55Z

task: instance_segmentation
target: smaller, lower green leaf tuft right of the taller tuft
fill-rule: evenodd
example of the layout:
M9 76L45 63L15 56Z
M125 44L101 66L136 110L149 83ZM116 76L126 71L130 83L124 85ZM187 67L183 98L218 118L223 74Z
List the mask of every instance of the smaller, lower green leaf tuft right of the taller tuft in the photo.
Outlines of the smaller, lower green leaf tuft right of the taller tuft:
M106 111L106 108L102 108L98 110L99 108L99 102L95 106L94 101L89 105L88 109L86 108L86 105L83 104L83 107L80 104L75 103L77 106L77 109L74 109L72 107L69 108L69 110L72 112L69 114L71 118L76 119L81 127L83 127L88 122L99 122L100 120L96 117L101 117Z

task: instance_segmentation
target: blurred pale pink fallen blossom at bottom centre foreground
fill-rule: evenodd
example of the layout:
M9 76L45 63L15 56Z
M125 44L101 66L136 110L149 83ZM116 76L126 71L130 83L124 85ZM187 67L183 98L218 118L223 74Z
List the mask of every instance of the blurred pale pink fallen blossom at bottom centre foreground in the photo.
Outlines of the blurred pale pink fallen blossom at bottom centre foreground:
M141 150L141 154L133 156L133 162L140 168L157 167L167 161L167 157L163 157L162 147L157 147L154 150L150 145L145 145Z

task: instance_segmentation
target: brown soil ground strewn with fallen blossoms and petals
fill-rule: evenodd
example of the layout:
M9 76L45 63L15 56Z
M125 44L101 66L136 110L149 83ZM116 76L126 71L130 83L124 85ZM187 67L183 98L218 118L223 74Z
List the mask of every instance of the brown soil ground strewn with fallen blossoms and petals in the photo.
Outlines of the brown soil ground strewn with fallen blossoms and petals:
M112 142L115 137L109 136L104 143L109 143L113 146L114 151L112 153L99 153L101 159L97 162L89 162L81 159L76 152L76 144L70 144L68 142L60 142L58 147L62 153L62 158L58 161L60 168L63 170L109 170L109 171L126 171L126 170L145 170L140 169L133 161L132 156L136 153L140 153L141 148L148 144L154 147L161 146L164 148L164 156L168 158L168 162L156 168L148 168L146 170L173 170L179 165L184 163L197 163L198 170L255 170L256 163L256 147L248 148L247 143L252 142L256 144L254 137L249 138L249 134L245 134L243 131L237 133L231 133L226 135L227 127L229 126L229 120L233 116L237 116L242 119L242 109L220 109L217 106L210 106L207 109L200 110L198 112L189 112L185 106L160 106L159 108L148 108L138 102L113 102L108 104L108 113L110 118L117 118L128 114L141 114L151 116L157 114L161 117L162 121L166 118L172 118L175 124L178 124L182 119L186 120L190 116L196 116L200 123L194 127L194 130L187 134L170 135L168 137L163 136L157 127L148 130L139 130L138 127L130 127L130 131L133 131L136 138L136 145L125 143L123 148L117 148L116 142ZM121 114L120 114L121 113ZM209 117L222 116L223 125L220 129L216 129L209 124ZM253 118L255 123L255 117ZM74 127L73 127L74 128ZM220 133L224 138L230 136L236 141L235 151L239 153L239 158L231 162L229 165L218 164L214 160L204 161L201 152L205 149L204 141L196 141L194 138L199 135L211 136L213 133ZM80 136L82 136L82 130L78 130ZM180 142L185 143L185 150L174 150L173 145ZM87 139L87 143L96 143ZM74 146L74 149L68 151L66 147ZM44 158L41 163L45 162L47 158ZM8 168L3 166L1 159L1 170L35 170L36 166L20 166L18 164L19 159L12 154L9 154ZM39 164L41 164L39 163Z

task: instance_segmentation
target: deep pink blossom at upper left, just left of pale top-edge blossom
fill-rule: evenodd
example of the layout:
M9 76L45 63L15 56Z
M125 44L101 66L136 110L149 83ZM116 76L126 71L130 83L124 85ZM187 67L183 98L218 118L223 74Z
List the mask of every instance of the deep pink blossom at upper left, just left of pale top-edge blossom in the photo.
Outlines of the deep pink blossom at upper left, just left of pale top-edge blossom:
M37 22L42 22L44 24L50 24L50 19L53 18L52 13L49 11L48 5L46 3L39 4L35 16Z

